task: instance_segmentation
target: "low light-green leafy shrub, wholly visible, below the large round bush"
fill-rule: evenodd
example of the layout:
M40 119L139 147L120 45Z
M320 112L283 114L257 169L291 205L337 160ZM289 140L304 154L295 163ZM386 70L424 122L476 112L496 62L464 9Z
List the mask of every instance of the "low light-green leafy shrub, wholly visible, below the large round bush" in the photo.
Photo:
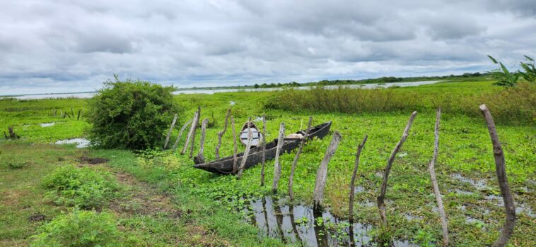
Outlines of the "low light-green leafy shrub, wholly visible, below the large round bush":
M45 176L42 183L52 189L47 198L52 198L54 203L82 208L100 208L119 190L107 171L94 171L89 167L59 167Z

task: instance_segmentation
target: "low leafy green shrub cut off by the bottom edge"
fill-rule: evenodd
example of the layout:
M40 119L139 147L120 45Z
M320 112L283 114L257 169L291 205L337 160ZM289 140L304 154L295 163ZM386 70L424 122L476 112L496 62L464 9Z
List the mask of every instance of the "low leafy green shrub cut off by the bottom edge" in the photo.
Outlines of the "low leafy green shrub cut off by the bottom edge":
M31 246L120 246L122 234L108 212L74 210L56 217L31 236Z

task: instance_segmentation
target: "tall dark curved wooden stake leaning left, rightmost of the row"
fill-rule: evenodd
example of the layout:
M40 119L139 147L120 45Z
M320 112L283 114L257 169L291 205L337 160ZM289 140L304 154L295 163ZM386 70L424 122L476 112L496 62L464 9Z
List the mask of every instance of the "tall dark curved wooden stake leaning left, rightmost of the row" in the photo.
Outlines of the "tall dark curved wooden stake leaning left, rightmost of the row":
M491 138L491 143L493 144L493 155L495 158L495 169L497 174L497 180L499 181L499 188L501 188L501 194L503 195L504 202L504 211L506 212L506 220L501 230L501 236L495 241L492 245L493 247L502 247L508 243L508 239L513 232L513 227L515 226L515 205L513 202L512 194L510 193L510 186L508 186L508 178L506 177L506 167L504 165L504 153L503 148L501 147L501 142L499 141L499 135L495 128L495 122L489 112L486 104L482 104L480 111L484 114L484 119L488 126L489 137Z

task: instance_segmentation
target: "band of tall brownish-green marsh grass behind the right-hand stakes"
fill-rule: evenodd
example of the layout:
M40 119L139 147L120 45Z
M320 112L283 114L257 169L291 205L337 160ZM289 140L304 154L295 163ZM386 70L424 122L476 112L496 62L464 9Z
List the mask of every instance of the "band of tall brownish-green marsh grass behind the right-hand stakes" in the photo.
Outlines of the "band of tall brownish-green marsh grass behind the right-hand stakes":
M345 88L284 90L276 92L264 107L293 112L341 112L378 114L381 112L433 112L441 107L448 114L479 117L479 104L487 104L497 123L534 123L536 85L519 83L514 88L499 88L482 83L458 83L456 90L439 88L447 83L408 88Z

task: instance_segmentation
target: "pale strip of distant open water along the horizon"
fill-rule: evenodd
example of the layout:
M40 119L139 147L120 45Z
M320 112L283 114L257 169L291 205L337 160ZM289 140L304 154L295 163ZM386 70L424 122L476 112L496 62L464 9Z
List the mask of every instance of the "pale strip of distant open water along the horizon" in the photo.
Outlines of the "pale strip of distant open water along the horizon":
M393 86L410 87L410 86L418 86L418 85L428 85L428 84L438 83L440 81L441 80L414 81L414 82L407 82L407 83L385 83L385 84L372 83L372 84L343 85L343 87L344 88L368 88L368 89L390 88ZM315 88L315 87L304 86L304 87L296 87L293 89L310 90L312 88ZM325 88L336 89L336 88L339 88L339 85L328 85L328 86L325 86ZM173 92L173 94L174 95L180 95L180 94L213 95L216 92L262 92L262 91L276 91L276 90L281 90L281 88L247 88L247 89L229 88L229 89L206 89L206 90L177 90ZM95 92L73 92L73 93L57 93L57 94L43 94L43 95L20 95L20 96L14 96L13 98L16 98L18 100L39 100L39 99L69 98L69 97L86 99L86 98L93 97L93 95L95 95Z

